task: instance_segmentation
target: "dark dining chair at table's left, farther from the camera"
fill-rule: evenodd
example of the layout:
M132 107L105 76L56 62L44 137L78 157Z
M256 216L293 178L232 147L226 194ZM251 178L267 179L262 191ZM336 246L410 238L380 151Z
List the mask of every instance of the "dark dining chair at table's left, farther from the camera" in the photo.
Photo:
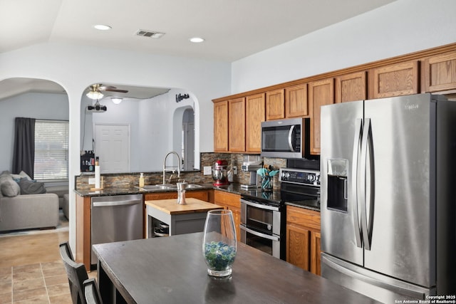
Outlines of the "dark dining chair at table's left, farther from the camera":
M71 253L68 242L60 244L60 255L68 276L73 304L86 304L86 297L83 290L83 282L88 279L86 266L83 263L76 263L74 261L73 253Z

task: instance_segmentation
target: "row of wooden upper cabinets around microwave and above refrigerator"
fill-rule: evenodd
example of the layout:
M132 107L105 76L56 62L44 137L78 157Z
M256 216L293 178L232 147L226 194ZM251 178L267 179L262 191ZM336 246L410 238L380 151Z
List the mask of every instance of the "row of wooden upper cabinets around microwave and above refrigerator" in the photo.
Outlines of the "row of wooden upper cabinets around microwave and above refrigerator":
M279 83L246 93L217 98L214 102L214 152L259 152L260 135L254 125L260 120L264 98L264 120L310 117L310 154L320 154L320 107L354 100L387 98L417 93L456 95L456 43L415 53L364 63L342 70ZM230 135L229 100L246 98L245 129L230 127L241 137ZM242 109L241 105L236 110ZM234 110L234 109L233 109ZM258 114L252 115L252 113ZM237 121L242 122L242 118ZM242 147L244 135L244 150ZM230 149L229 138L238 142Z

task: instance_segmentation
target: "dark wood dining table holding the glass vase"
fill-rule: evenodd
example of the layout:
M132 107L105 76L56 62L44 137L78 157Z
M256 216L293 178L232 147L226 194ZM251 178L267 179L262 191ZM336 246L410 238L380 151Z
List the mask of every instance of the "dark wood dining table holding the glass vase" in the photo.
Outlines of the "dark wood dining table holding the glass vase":
M212 278L202 237L94 245L101 292L114 286L127 303L378 303L239 242L231 278Z

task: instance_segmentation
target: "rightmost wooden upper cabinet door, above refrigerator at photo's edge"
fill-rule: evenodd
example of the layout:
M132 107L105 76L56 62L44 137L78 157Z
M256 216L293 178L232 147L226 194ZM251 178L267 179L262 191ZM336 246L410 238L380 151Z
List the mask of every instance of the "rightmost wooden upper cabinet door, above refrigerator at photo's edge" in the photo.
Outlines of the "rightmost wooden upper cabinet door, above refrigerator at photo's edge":
M456 51L425 59L425 91L456 89Z

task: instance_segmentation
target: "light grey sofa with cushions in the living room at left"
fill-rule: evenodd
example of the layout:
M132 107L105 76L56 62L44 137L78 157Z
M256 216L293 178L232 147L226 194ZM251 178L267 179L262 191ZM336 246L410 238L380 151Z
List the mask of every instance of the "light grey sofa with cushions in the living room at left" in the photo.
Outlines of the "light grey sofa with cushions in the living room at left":
M43 183L24 174L20 182L13 177L8 171L0 174L0 232L55 228L59 221L58 195L46 193Z

